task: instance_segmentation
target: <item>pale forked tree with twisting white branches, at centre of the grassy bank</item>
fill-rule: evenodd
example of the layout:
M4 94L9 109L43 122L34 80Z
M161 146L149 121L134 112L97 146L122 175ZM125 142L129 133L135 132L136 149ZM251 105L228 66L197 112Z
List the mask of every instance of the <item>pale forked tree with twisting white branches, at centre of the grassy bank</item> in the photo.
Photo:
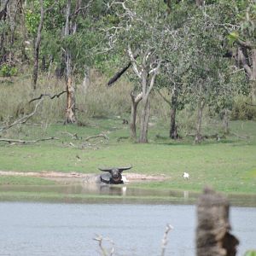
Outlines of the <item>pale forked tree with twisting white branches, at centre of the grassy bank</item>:
M113 1L109 4L117 17L115 26L108 27L109 48L113 52L126 53L131 61L133 75L137 78L139 90L131 95L131 127L135 126L137 103L141 102L141 125L139 143L148 143L149 96L155 86L155 79L163 64L166 38L172 31L165 27L166 5L155 0L124 2ZM135 135L136 129L131 133Z

